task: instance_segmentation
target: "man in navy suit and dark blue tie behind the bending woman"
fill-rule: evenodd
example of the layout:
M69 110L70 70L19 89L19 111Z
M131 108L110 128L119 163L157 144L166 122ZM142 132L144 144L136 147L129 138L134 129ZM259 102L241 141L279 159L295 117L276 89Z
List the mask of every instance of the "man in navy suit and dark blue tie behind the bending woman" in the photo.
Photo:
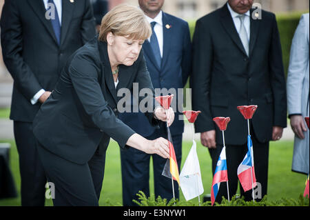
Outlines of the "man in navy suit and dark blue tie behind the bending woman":
M143 51L156 95L174 93L172 107L176 112L176 120L170 130L178 167L180 168L184 123L183 120L179 119L182 110L176 106L183 106L183 103L177 102L177 92L178 88L183 89L185 86L190 71L191 41L189 26L187 22L163 12L161 10L163 0L139 0L138 3L145 12L153 31L150 39L143 44ZM158 89L161 92L158 92ZM167 90L165 91L165 89ZM120 114L120 119L147 139L167 138L165 123L161 124L159 130L155 129L149 125L141 112L125 112ZM139 190L149 195L149 159L149 154L134 148L121 150L123 206L134 206L135 203L132 202L132 199L137 199L136 194ZM162 175L166 160L155 154L152 155L152 159L155 196L161 196L168 200L172 199L171 179ZM174 189L178 189L176 182L174 182ZM176 190L176 198L178 198L178 190Z

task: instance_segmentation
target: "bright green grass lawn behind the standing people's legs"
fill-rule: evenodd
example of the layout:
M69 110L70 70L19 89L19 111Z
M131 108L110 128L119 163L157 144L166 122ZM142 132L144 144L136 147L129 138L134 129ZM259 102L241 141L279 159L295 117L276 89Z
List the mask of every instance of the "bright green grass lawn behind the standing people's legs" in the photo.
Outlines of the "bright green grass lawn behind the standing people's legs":
M20 176L17 148L12 140L1 140L0 142L11 143L10 167L13 172L17 190L20 194ZM191 142L183 142L183 163L192 147ZM211 159L207 148L197 143L200 170L203 177L204 194L209 194L211 190ZM282 197L298 199L304 191L304 181L307 178L304 174L291 172L291 158L293 154L293 141L271 142L269 152L269 185L268 200L273 201ZM152 163L152 162L151 162ZM152 168L152 166L150 166ZM154 193L154 184L150 174L150 190ZM202 197L200 197L202 199ZM180 193L180 201L185 201ZM198 199L192 199L198 204ZM107 149L107 160L105 163L105 179L103 180L103 190L101 191L100 206L121 206L122 205L122 183L121 183L121 161L118 145L112 141ZM0 206L20 206L20 197L15 199L0 199ZM46 206L52 206L51 199L46 199Z

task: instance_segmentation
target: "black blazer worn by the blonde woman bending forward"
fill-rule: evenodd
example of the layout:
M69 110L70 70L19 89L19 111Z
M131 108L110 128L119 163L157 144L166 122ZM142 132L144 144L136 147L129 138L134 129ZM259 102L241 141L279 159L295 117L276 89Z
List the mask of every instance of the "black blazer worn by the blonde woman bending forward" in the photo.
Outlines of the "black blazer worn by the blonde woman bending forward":
M155 106L143 52L132 66L119 66L115 88L107 43L95 37L68 59L52 94L34 118L34 136L54 154L75 163L89 161L99 143L107 148L110 137L124 148L135 132L117 118L117 103L123 97L116 92L120 88L132 91L132 83L139 83L139 89L152 89L149 101ZM150 123L158 124L153 112L145 115Z

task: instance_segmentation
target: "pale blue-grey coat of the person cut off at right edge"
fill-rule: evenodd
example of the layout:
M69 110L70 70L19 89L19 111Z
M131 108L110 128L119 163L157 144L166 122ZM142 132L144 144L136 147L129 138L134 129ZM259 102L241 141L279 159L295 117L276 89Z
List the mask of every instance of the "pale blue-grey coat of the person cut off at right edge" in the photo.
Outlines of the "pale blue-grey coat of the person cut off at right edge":
M302 14L291 45L287 107L289 114L309 117L309 13ZM292 170L309 174L309 130L304 134L295 135Z

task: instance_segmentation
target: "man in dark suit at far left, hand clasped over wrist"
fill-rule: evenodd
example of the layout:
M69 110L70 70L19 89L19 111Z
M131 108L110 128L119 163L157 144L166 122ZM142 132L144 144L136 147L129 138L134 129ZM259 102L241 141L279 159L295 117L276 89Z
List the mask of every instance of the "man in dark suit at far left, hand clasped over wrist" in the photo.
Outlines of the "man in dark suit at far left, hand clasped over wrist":
M89 0L6 0L1 16L3 59L14 79L10 119L19 152L21 205L44 206L45 174L32 121L50 96L68 57L94 37Z

